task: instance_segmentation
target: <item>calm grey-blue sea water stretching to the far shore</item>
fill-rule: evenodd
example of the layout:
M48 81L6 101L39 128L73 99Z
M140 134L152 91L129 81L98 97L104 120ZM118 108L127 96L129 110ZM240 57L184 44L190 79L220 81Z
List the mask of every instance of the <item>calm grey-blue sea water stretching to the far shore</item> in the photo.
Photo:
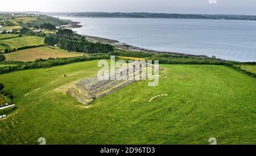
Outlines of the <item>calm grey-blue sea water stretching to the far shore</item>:
M118 40L137 47L225 60L256 61L256 22L203 19L73 18L82 35Z

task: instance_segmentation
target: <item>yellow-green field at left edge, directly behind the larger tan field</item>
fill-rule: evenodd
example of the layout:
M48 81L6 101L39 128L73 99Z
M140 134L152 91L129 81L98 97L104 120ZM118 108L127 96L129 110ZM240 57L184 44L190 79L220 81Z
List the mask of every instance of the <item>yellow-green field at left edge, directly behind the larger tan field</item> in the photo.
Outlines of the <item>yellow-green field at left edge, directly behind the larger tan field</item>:
M22 36L13 39L0 40L0 43L5 43L11 48L20 48L32 45L43 45L44 38L37 36Z

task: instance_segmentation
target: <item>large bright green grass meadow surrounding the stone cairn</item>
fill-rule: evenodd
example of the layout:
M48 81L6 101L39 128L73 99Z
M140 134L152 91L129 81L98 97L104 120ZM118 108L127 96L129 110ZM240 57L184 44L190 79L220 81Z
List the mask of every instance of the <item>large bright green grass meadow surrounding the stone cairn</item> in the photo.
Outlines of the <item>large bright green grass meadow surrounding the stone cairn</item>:
M0 144L256 144L255 78L225 66L162 65L167 78L161 71L157 87L135 82L84 107L64 92L96 75L97 62L0 75L18 106L0 120Z

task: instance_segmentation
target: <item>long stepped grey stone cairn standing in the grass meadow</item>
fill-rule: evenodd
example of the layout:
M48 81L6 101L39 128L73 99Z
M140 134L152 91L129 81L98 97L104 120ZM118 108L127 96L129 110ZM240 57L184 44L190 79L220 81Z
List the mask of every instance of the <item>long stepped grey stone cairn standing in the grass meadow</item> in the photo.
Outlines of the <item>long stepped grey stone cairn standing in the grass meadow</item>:
M133 78L133 80L129 79L129 76L135 77L139 75L141 78L146 78L146 74L142 72L147 68L151 68L155 71L154 66L147 64L144 61L135 61L128 69L116 69L115 74L118 71L118 76L115 76L115 80L99 80L97 77L82 79L80 82L75 83L72 88L69 88L67 94L84 104L85 106L89 106L93 103L94 99L102 98L114 91L119 90L135 81L138 78ZM131 70L133 68L133 70ZM127 70L125 72L125 70ZM144 74L142 74L144 73ZM138 79L139 80L139 79Z

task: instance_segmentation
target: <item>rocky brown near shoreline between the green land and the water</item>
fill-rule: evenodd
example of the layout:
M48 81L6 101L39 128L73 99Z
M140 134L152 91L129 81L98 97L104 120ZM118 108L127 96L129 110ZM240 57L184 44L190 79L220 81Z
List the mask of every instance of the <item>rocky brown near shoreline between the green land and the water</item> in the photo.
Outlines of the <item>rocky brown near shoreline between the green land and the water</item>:
M61 19L64 20L65 22L68 22L68 25L64 25L64 26L60 26L59 28L67 28L67 29L72 29L72 28L81 28L82 26L80 25L80 22L74 22L72 20L68 20L68 19ZM81 34L79 34L81 35ZM110 44L113 45L113 47L115 49L118 50L125 50L125 51L130 51L130 52L148 52L148 53L155 53L155 54L164 54L164 53L168 53L168 54L176 54L179 56L188 56L188 57L198 57L198 58L208 58L211 59L209 56L205 56L205 55L195 55L195 54L186 54L186 53L179 53L179 52L162 52L162 51L158 51L158 50L151 50L151 49L146 49L146 48L141 48L141 47L136 47L133 45L128 45L126 43L121 43L117 40L112 40L112 39L106 39L103 37L97 37L97 36L89 36L89 35L81 35L81 36L85 36L87 40L93 42L93 43L102 43L102 44ZM217 58L217 60L221 60L221 61L228 61L228 60L222 60L221 58Z

